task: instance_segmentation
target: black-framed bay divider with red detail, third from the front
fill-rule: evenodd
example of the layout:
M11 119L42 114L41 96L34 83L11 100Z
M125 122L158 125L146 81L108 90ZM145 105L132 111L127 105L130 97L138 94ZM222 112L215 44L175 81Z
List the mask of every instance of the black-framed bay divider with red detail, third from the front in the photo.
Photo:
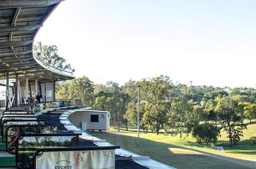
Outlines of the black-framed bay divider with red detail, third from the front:
M56 133L58 126L55 124L42 125L9 125L5 132L5 148L8 153L15 154L15 142L20 134L44 134Z

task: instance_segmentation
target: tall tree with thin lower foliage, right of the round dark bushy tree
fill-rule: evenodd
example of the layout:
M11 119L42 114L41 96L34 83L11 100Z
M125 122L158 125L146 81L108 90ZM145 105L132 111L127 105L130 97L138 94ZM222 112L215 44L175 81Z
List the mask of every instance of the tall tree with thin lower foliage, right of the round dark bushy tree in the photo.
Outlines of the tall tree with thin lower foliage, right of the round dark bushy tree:
M241 108L235 100L223 97L218 100L215 111L218 112L218 119L223 130L227 132L230 147L232 147L233 143L238 143L243 136L243 130L247 129L243 122Z

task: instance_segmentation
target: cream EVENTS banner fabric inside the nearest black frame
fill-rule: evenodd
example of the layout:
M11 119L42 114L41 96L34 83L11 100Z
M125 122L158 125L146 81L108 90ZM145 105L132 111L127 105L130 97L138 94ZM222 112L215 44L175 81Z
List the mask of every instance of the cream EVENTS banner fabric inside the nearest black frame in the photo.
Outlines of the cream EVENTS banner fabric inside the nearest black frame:
M36 169L115 169L115 150L44 152Z

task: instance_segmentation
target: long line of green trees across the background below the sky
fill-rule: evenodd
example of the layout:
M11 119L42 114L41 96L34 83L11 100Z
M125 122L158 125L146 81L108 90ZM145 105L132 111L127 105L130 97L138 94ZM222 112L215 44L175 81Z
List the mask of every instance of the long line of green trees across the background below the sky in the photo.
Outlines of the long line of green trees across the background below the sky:
M256 118L256 90L186 86L159 76L129 80L123 86L109 81L94 84L82 77L57 85L57 98L81 99L83 105L110 111L110 124L137 125L138 90L141 86L140 126L143 132L179 135L191 133L198 143L215 143L220 130L227 133L230 146L239 142L246 129L244 120Z

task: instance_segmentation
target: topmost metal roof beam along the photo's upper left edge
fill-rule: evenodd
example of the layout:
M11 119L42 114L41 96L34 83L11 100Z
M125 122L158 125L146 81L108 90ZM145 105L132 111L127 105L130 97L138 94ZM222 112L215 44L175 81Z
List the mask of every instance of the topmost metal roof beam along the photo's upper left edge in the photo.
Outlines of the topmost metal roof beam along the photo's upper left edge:
M62 0L1 0L0 8L42 7L60 3Z

